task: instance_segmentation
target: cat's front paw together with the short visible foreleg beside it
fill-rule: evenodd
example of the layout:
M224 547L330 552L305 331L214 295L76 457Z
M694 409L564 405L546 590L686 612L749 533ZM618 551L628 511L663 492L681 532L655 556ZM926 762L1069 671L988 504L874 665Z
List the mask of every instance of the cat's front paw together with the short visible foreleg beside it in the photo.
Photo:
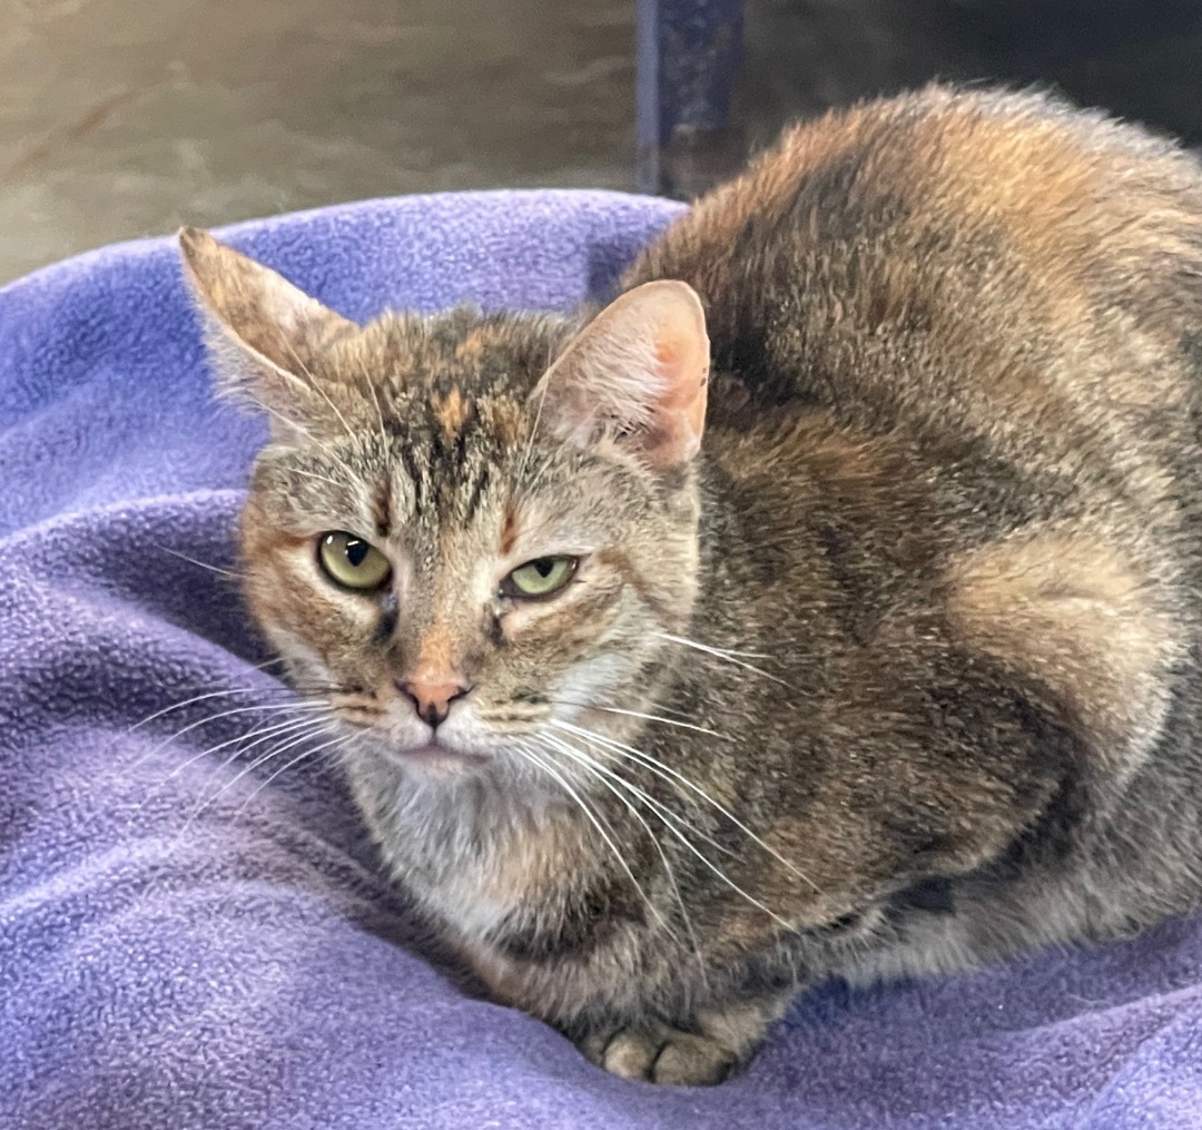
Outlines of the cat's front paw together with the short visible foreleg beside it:
M708 1087L721 1083L755 1054L791 999L787 994L712 1006L682 1027L654 1017L602 1025L577 1042L587 1059L623 1078Z

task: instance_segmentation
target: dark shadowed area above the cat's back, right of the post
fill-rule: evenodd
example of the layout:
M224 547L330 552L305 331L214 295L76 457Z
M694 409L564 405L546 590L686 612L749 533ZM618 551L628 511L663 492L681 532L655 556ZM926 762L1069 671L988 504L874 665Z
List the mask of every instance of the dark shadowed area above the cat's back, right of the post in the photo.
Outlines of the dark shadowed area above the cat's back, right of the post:
M1200 0L748 0L740 113L783 121L933 77L1040 83L1202 144Z

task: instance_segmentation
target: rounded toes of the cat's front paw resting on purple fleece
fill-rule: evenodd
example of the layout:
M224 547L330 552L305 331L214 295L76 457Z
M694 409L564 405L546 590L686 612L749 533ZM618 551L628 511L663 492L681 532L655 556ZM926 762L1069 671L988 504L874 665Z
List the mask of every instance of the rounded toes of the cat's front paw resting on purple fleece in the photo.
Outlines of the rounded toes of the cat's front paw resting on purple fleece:
M734 1052L716 1040L657 1023L589 1036L581 1051L597 1066L625 1080L674 1087L721 1083L738 1065Z

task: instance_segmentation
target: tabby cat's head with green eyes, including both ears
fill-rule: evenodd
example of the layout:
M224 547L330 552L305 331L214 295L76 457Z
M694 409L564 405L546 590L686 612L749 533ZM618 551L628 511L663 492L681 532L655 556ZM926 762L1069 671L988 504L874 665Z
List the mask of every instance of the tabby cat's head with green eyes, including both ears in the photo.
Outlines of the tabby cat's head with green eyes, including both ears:
M359 327L208 234L180 244L224 392L270 423L243 564L298 685L424 778L530 763L553 720L629 720L697 591L697 296L651 282L583 328Z

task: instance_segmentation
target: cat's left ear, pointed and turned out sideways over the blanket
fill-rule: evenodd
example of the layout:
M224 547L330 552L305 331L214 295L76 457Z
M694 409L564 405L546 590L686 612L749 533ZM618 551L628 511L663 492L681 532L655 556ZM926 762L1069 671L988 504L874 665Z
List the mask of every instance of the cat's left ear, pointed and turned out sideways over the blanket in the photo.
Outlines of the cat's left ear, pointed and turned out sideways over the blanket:
M208 232L183 228L179 249L220 391L266 409L276 439L288 438L290 421L302 432L317 423L329 412L323 355L358 327Z

